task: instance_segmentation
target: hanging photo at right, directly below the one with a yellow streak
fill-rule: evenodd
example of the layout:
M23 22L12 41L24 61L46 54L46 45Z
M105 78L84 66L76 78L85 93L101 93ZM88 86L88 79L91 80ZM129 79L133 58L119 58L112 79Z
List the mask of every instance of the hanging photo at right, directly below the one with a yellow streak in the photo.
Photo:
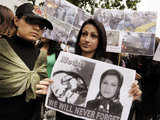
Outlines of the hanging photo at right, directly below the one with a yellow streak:
M123 32L122 53L153 56L155 34Z

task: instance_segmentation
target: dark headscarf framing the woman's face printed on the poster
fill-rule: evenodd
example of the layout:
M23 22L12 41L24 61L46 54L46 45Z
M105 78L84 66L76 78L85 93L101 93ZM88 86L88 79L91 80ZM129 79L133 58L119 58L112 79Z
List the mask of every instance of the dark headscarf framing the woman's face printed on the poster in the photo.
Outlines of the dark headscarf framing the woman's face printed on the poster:
M123 76L122 74L115 70L115 69L109 69L107 71L105 71L102 75L101 75L101 79L100 79L100 87L101 87L101 84L102 84L102 81L104 80L104 78L107 76L107 75L114 75L118 78L118 88L116 90L116 93L115 95L113 96L114 99L119 99L119 94L120 94L120 88L122 86L122 83L123 83Z

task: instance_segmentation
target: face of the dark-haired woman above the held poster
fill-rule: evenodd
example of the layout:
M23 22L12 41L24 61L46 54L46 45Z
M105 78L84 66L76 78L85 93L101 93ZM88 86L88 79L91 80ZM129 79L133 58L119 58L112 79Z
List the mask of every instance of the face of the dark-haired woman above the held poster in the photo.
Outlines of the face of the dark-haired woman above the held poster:
M91 24L84 26L79 42L82 52L95 53L98 42L98 31L96 27Z

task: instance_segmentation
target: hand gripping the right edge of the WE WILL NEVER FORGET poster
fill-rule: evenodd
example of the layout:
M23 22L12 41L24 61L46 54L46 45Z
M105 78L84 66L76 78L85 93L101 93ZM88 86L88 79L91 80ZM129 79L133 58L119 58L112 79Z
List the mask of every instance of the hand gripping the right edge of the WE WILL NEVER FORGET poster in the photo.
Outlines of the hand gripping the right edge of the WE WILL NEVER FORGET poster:
M130 96L133 97L133 100L139 100L140 99L140 97L142 95L142 91L139 88L138 81L135 81L132 84L132 87L129 91L129 94L130 94Z

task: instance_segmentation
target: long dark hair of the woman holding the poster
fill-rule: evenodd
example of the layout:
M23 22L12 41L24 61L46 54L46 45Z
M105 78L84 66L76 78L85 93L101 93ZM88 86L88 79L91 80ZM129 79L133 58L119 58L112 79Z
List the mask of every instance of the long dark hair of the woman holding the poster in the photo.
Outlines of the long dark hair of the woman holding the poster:
M103 24L100 23L96 19L90 18L83 23L83 25L82 25L79 33L78 33L76 47L75 47L75 53L78 54L78 55L81 55L82 50L79 46L79 42L80 42L80 38L81 38L81 35L82 35L82 30L88 24L91 24L91 25L95 26L97 31L98 31L98 41L99 41L99 43L98 43L98 47L96 49L96 52L93 56L93 59L96 59L96 57L104 56L105 50L106 50L106 45L107 45L107 36L106 36L105 28L104 28Z

